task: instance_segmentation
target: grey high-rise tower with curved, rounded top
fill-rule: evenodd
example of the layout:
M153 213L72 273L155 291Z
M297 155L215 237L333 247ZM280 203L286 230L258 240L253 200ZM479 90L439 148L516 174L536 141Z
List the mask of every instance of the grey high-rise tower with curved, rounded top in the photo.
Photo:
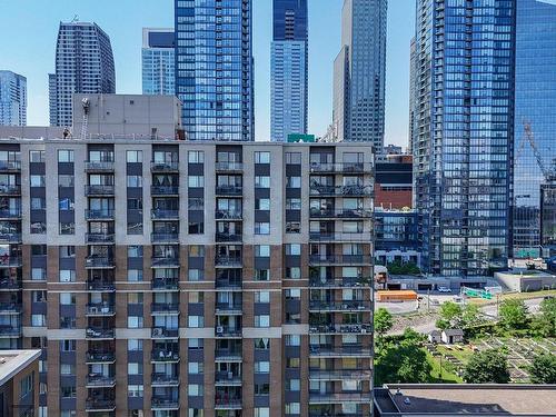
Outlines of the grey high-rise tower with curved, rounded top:
M49 75L51 126L71 126L75 92L116 92L110 38L97 23L60 23L56 72Z

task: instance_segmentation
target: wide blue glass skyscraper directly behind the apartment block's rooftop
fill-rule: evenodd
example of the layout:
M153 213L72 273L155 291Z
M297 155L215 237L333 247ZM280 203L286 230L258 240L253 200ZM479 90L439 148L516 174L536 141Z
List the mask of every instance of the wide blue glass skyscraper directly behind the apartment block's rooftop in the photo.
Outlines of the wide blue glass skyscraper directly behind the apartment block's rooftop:
M251 0L176 0L176 92L189 140L254 140Z

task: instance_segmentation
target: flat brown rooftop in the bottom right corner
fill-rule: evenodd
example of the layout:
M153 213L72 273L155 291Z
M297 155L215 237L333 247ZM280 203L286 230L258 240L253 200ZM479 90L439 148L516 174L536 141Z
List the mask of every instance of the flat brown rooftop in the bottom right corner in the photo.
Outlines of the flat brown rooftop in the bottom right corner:
M388 385L375 404L380 416L556 416L556 385Z

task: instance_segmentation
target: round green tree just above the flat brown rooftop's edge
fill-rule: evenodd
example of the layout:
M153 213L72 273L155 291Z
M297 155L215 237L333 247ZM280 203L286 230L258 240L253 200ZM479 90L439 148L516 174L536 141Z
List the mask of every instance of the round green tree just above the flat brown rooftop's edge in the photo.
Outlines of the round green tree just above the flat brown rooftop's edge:
M464 370L468 384L507 384L509 370L506 356L497 349L475 353Z

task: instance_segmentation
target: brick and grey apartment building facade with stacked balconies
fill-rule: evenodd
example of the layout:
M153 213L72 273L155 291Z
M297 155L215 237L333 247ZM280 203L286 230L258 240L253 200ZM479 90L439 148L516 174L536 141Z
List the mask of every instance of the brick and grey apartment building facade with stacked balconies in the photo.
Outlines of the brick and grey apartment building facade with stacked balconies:
M0 347L40 416L368 416L373 188L357 143L0 140Z

